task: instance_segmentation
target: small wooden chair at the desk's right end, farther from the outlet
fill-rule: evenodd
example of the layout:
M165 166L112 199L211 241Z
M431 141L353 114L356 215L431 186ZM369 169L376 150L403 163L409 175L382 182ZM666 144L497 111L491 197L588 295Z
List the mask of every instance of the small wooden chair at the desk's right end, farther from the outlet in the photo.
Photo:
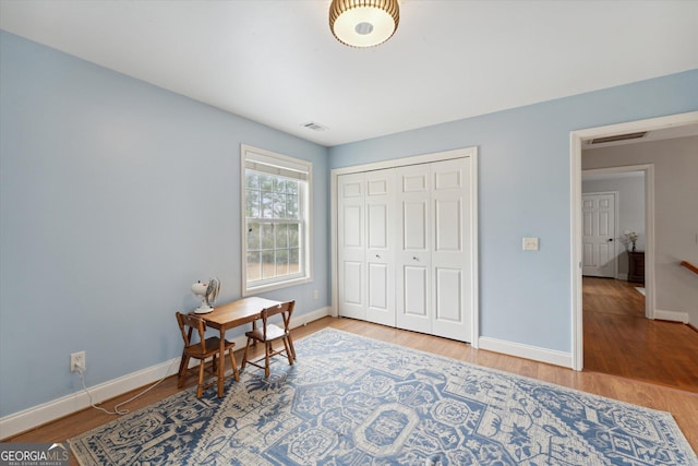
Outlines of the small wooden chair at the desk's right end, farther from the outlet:
M288 363L293 366L296 349L293 348L293 340L291 339L290 323L294 307L296 301L288 301L262 310L262 327L257 328L255 323L252 325L252 331L245 333L248 344L244 347L241 369L244 369L245 365L250 363L260 369L264 369L264 377L267 378L269 377L269 360L272 357L277 355L285 355L288 359ZM281 315L284 324L282 328L268 322L269 318L278 314ZM284 342L284 348L274 349L274 343L279 339ZM255 342L260 342L264 345L264 357L255 361L250 361L248 360L248 351L250 350L250 345ZM264 361L264 366L262 366L262 361Z

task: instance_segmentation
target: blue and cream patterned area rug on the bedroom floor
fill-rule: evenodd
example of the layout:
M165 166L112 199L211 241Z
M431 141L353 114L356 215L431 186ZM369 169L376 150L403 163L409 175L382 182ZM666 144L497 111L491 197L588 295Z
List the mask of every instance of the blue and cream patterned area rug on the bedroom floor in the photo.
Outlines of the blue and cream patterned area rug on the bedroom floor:
M81 465L698 465L669 413L325 328L70 440Z

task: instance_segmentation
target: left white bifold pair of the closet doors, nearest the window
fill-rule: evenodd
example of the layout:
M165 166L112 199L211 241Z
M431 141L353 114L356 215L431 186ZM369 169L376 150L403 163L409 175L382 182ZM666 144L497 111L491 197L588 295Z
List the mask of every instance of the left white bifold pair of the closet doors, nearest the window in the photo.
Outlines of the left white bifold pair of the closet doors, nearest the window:
M338 177L339 315L395 326L395 170Z

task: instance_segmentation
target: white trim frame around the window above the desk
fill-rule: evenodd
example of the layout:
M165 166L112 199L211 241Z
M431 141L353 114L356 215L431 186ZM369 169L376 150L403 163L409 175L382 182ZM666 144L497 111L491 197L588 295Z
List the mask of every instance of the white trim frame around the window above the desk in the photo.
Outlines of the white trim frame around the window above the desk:
M249 158L255 160L262 160L265 163L277 162L280 167L288 168L290 170L304 171L308 174L308 192L304 196L304 235L302 237L302 254L304 263L304 275L293 275L288 279L275 280L273 283L260 284L257 286L248 285L248 241L246 241L246 224L245 216L245 169ZM300 158L289 157L287 155L276 154L263 148L253 147L246 144L240 144L240 242L241 242L241 275L242 275L242 296L250 296L260 292L266 292L274 289L286 288L289 286L302 285L313 280L313 250L311 244L313 243L313 165L308 160Z

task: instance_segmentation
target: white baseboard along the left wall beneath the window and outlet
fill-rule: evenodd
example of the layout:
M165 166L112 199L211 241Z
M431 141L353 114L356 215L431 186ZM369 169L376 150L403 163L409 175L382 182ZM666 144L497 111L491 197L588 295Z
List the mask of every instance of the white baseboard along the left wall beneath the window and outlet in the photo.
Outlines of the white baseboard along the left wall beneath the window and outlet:
M315 311L294 316L291 327L305 325L309 322L329 315L332 308L324 307ZM236 347L244 348L246 338L241 335L233 339ZM98 385L88 386L95 404L113 398L132 390L152 384L163 378L173 375L179 370L180 358L170 359L159 365L142 369L123 377L109 380ZM196 365L192 361L192 365ZM87 377L88 373L86 373ZM77 378L77 375L75 375ZM19 413L0 418L0 440L16 435L17 433L50 422L58 418L71 415L89 406L89 396L83 390L73 394L53 399L41 405L33 406Z

